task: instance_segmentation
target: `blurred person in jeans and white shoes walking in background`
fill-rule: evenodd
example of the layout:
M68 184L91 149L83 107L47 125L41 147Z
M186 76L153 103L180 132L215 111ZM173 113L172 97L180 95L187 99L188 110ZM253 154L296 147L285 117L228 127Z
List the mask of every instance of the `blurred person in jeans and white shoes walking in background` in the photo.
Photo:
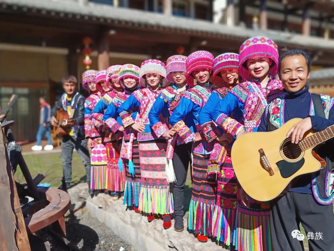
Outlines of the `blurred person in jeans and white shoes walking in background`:
M41 151L42 146L42 137L43 134L47 138L47 145L44 147L44 150L52 150L52 141L51 141L51 124L50 124L50 113L51 107L48 102L46 102L44 97L39 97L40 111L39 111L39 127L36 134L36 145L31 147L33 151Z

